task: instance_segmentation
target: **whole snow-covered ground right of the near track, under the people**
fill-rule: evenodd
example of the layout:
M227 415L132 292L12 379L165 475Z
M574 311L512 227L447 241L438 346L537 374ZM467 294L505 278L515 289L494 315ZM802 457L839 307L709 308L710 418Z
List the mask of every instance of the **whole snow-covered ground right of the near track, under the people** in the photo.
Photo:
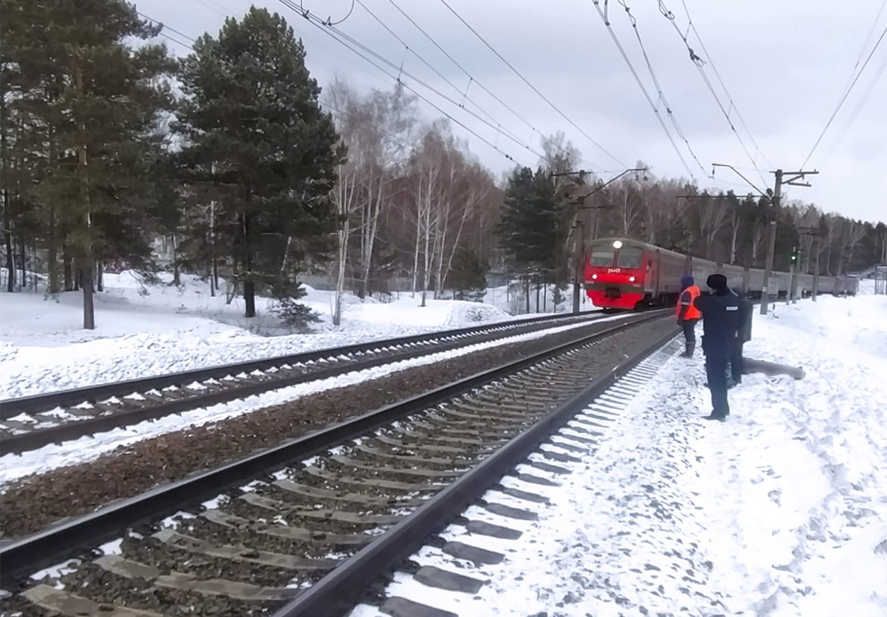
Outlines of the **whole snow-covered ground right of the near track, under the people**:
M746 356L803 366L805 379L745 376L727 422L711 423L702 360L671 357L580 463L557 463L572 471L548 476L561 486L503 481L550 499L507 502L538 521L466 512L521 538L442 534L501 564L434 547L412 557L488 581L476 595L405 573L387 595L460 617L887 615L887 297L776 305L753 336Z

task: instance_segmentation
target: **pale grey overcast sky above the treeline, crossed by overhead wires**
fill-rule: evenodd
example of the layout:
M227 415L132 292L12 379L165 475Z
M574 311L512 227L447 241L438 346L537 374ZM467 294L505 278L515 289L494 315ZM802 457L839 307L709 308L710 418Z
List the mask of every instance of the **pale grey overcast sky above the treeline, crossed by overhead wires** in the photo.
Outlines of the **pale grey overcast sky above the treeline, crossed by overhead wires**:
M416 81L421 80L462 103L469 80L396 11L392 2L476 80L467 91L470 101L465 105L495 128ZM732 170L718 169L715 178L710 178L711 163L719 162L734 165L759 188L773 186L770 171L800 169L844 95L854 66L862 66L878 37L883 36L887 27L883 0L852 0L844 4L834 0L685 2L708 53L692 30L687 35L688 44L706 60L702 72L710 80L738 137L731 131L681 38L688 27L681 0L663 0L658 4L653 0L624 0L637 20L637 32L668 101L671 117L689 148L659 99L624 7L616 0L609 0L608 7L616 38L658 107L678 154L592 0L447 0L563 115L523 83L442 0L359 0L350 14L352 0L302 0L304 8L322 19L344 20L336 28L360 44L397 66L403 62L404 72L415 78L404 75L404 83L475 131L480 138L454 123L456 132L468 139L472 151L497 176L514 165L504 154L516 162L535 166L538 157L530 149L540 151L539 133L564 131L581 150L583 166L599 172L603 178L641 160L655 176L689 178L692 173L700 186L733 188L744 193L746 185ZM321 85L339 75L364 90L393 87L392 77L279 0L139 0L137 9L186 36L196 37L204 32L216 36L225 16L239 17L250 4L266 6L286 17L302 37L309 69ZM299 0L294 4L299 4ZM600 0L601 11L603 7L604 1ZM671 11L677 28L663 16L660 7ZM404 44L374 20L367 9L412 51L405 51ZM180 38L173 32L169 35ZM167 43L177 55L189 51ZM878 79L885 66L887 41L869 60L803 168L819 170L820 175L809 178L811 188L790 187L787 199L813 202L823 210L852 218L887 222L887 79ZM714 69L734 105L721 88ZM397 73L390 67L386 70L389 74ZM486 94L478 83L520 117ZM426 103L423 108L429 120L441 115ZM497 131L498 127L502 132ZM510 133L514 139L503 133Z

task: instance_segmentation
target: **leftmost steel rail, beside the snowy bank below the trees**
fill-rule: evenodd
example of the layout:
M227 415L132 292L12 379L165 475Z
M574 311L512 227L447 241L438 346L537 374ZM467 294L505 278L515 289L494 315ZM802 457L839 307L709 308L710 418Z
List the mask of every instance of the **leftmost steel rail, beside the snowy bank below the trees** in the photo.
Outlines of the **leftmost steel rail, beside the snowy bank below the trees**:
M94 403L98 399L109 399L114 396L126 396L128 394L131 394L132 392L162 390L163 388L169 388L169 386L181 386L182 384L190 384L195 381L200 382L207 379L214 379L229 375L239 375L240 373L249 374L255 370L266 370L268 368L280 367L285 364L314 362L318 360L326 360L329 358L337 358L342 355L353 355L357 353L372 352L373 350L381 350L397 346L428 343L440 338L471 336L473 334L483 333L488 330L500 330L503 328L522 329L522 326L525 325L532 326L545 324L549 321L569 320L570 318L581 320L587 319L589 316L596 315L602 315L602 313L598 311L586 311L581 312L578 315L569 313L559 315L545 315L543 317L534 317L526 320L501 321L483 324L480 326L469 326L467 328L438 330L436 332L428 332L420 335L398 336L396 338L379 339L376 341L344 345L341 347L327 347L326 349L319 349L313 352L302 352L283 356L273 356L271 358L263 358L261 360L248 360L246 362L235 362L232 364L218 365L215 367L195 368L192 370L169 373L160 376L128 379L111 384L90 385L82 388L72 388L68 390L60 390L57 392L46 392L43 394L35 394L32 396L18 397L15 399L2 399L0 400L0 420L9 420L14 415L19 415L22 413L32 414L39 411L54 409L55 407L73 407L83 402Z

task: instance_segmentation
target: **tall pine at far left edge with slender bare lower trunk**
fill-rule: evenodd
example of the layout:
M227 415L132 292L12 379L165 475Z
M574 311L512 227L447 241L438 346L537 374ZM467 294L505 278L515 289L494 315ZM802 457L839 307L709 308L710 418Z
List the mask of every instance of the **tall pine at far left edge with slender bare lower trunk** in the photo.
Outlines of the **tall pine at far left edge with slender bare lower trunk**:
M59 246L73 257L83 328L95 328L97 259L144 264L151 256L150 171L161 157L160 115L172 106L164 77L175 64L162 45L124 43L159 28L122 0L5 0L3 12L21 158L43 171L27 194L43 215L50 267Z

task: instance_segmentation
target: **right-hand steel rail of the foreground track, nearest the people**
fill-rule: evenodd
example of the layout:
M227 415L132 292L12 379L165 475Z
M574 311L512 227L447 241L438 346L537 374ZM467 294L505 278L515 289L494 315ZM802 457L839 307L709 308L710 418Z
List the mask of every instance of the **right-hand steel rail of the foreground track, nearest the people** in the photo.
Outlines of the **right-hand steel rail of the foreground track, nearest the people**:
M592 399L607 391L619 377L677 335L677 332L671 332L662 336L647 349L618 364L606 376L578 392L561 407L454 480L450 486L443 488L404 521L381 534L365 549L280 608L273 617L334 617L348 613L355 604L355 598L368 585L409 558L428 542L430 536L443 531L453 518L496 485L554 431L585 409Z

